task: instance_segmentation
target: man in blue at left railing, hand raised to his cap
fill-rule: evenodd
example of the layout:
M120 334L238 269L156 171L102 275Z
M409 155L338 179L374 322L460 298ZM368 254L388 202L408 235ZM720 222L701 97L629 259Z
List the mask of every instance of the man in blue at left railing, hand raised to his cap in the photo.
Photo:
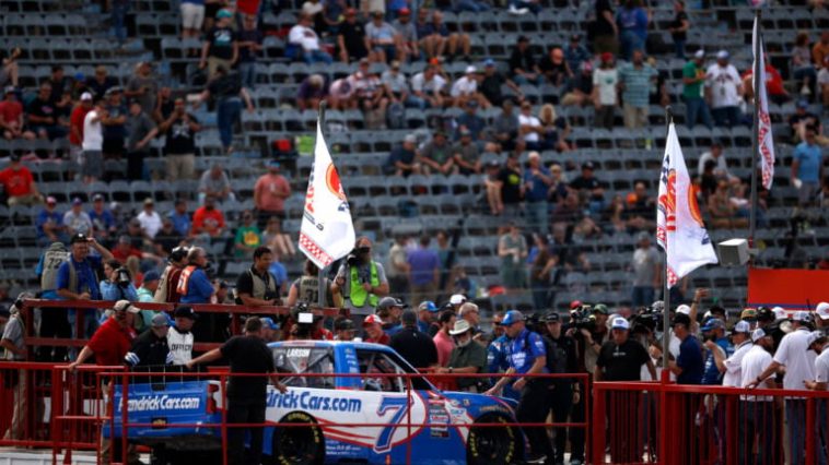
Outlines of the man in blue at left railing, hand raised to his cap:
M102 260L114 260L112 252L97 243L94 238L75 234L69 241L71 251L69 260L58 269L57 295L66 300L101 300L101 289L95 271L101 269ZM97 251L97 257L90 257L90 247ZM55 309L57 311L57 309ZM77 338L90 338L97 330L95 309L83 310L83 332L75 326L75 310L68 310L69 324Z

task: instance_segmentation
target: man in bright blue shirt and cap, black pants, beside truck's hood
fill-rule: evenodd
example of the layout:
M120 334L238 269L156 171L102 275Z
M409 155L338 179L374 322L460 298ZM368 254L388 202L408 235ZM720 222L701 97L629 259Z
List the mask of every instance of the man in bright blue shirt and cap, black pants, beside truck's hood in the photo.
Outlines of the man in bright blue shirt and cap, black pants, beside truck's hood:
M524 323L524 314L518 310L506 312L501 325L506 330L510 342L506 345L506 358L510 368L504 374L526 374L517 378L513 389L521 392L518 408L515 417L518 422L540 424L547 419L550 410L550 395L552 384L549 380L533 378L532 374L549 373L547 370L547 348L538 333L527 330ZM487 391L489 395L495 395L511 381L510 377L503 377ZM552 458L552 446L546 428L524 428L524 433L529 440L530 454L528 462L542 463L546 457Z

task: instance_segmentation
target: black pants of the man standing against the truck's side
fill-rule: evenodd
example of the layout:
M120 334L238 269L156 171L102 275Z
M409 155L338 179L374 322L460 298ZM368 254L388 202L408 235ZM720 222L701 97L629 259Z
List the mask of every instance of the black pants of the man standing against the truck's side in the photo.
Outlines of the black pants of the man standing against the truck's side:
M233 424L264 424L264 398L227 398L227 463L259 465L262 455L262 428L234 428ZM250 449L245 455L245 431L250 431Z

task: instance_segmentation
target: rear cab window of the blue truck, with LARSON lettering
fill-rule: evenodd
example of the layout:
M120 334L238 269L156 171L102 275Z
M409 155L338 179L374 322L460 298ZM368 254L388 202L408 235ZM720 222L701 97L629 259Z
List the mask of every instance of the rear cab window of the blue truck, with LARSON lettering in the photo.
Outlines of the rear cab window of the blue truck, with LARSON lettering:
M304 377L296 374L334 373L334 356L328 347L273 347L273 365L283 377L282 383L291 388L334 389L334 377Z

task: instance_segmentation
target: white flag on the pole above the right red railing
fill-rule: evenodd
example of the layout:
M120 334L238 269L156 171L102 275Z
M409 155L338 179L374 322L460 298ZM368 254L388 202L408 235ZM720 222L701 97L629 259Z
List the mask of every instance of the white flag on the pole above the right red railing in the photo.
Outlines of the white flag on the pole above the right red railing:
M659 201L656 206L656 242L668 262L668 287L698 267L716 263L716 253L702 223L691 178L685 166L674 123L668 128L665 157L659 175Z

